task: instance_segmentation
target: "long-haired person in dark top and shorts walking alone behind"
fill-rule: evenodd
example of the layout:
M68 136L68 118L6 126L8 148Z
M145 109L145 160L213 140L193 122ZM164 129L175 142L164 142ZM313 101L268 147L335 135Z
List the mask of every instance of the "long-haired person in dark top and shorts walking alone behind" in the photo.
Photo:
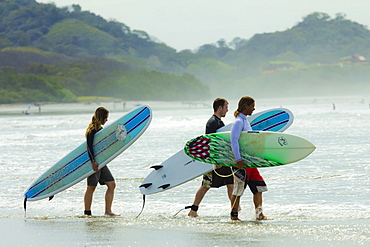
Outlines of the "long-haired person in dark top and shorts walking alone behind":
M85 215L91 215L91 204L93 199L93 194L98 185L98 182L101 185L107 186L107 191L105 193L105 215L110 216L119 216L112 212L112 202L114 197L114 189L116 188L116 182L109 171L107 166L104 166L99 170L99 164L95 160L93 143L95 134L101 130L107 121L108 121L109 111L104 107L98 107L95 110L95 114L92 117L91 123L86 129L86 140L87 140L87 151L91 161L92 169L95 171L94 174L87 178L87 189L84 196L85 203Z

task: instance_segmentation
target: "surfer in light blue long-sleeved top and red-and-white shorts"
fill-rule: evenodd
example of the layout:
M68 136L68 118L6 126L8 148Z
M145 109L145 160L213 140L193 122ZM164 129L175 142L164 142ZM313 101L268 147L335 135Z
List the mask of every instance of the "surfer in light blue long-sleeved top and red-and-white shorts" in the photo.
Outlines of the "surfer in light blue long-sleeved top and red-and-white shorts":
M231 219L239 220L238 209L240 197L243 195L246 186L253 193L253 202L256 210L256 219L264 220L267 217L262 211L262 192L267 191L267 186L257 168L244 168L247 165L240 157L239 137L242 131L251 131L252 127L247 120L252 115L255 107L254 99L248 96L242 97L238 103L238 109L234 112L234 122L231 127L231 148L236 160L234 170L234 190L231 199Z

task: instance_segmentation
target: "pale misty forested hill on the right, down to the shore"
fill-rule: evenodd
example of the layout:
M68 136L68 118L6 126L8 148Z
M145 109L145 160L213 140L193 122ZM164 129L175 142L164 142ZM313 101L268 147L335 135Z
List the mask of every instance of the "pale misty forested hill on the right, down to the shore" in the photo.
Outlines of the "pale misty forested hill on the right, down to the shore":
M189 68L201 81L212 80L219 87L227 82L228 88L245 87L261 97L370 91L370 31L344 14L331 18L312 13L288 30L235 38L230 44L220 40L203 45L197 55L223 63L213 63L214 77ZM238 97L238 92L230 92L230 97Z

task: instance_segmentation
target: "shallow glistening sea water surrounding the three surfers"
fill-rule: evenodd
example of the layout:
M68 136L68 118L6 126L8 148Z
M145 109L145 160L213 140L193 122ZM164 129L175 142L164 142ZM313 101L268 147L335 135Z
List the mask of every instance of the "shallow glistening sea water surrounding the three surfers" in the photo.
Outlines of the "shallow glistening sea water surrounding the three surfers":
M126 103L126 110L137 102ZM242 222L229 220L226 188L211 189L199 207L188 210L201 178L143 198L138 186L149 167L204 132L211 103L149 102L153 120L147 131L108 166L116 178L113 211L105 217L105 187L94 194L93 217L83 217L86 182L47 199L27 203L23 193L45 170L84 141L97 106L113 122L126 111L113 103L0 106L1 246L370 246L370 104L368 98L257 100L256 112L286 107L295 116L286 133L302 136L317 149L281 167L262 168L268 185L264 213L253 219L252 195L241 199ZM237 101L230 101L225 123ZM180 211L176 216L174 216Z

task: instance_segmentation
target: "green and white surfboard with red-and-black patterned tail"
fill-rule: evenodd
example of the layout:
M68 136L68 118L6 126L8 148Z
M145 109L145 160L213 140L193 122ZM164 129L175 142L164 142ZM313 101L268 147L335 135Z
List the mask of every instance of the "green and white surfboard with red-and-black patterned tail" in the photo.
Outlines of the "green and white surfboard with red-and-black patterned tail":
M230 132L202 135L188 141L185 153L198 161L236 166L231 149ZM273 167L290 164L310 155L315 146L291 134L271 131L243 131L239 137L241 158L246 167Z

